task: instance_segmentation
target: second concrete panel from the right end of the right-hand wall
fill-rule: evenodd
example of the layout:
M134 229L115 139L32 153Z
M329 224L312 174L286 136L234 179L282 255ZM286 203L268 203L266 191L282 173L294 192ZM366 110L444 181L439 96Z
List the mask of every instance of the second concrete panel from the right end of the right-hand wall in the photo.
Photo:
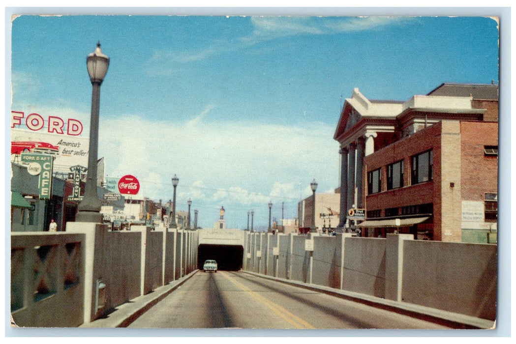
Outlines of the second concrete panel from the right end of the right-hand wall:
M385 239L345 238L343 289L385 297Z

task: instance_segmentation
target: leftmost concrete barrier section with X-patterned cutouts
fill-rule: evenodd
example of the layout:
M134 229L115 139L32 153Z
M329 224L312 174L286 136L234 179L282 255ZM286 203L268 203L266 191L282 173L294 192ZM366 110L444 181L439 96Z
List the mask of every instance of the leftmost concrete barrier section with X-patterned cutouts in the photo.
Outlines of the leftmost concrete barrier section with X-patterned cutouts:
M84 320L85 235L11 233L11 315L18 326Z

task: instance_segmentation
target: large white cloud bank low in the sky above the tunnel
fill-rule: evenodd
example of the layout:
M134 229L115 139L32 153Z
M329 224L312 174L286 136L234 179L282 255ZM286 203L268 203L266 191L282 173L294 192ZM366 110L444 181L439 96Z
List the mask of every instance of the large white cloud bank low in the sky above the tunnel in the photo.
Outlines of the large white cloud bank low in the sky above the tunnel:
M177 174L178 197L244 205L298 200L314 177L325 189L336 187L333 126L206 121L213 107L185 123L134 115L101 120L99 157L105 157L106 175L135 175L144 195L169 199Z

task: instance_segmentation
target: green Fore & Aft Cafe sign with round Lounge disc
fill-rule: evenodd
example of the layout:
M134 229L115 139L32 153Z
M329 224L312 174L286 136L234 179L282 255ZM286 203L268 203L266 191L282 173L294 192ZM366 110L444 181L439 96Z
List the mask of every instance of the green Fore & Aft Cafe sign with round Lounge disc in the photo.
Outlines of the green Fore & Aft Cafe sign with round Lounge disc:
M49 154L22 153L22 163L32 175L39 174L38 189L40 200L50 200L52 196L52 169L54 157Z

